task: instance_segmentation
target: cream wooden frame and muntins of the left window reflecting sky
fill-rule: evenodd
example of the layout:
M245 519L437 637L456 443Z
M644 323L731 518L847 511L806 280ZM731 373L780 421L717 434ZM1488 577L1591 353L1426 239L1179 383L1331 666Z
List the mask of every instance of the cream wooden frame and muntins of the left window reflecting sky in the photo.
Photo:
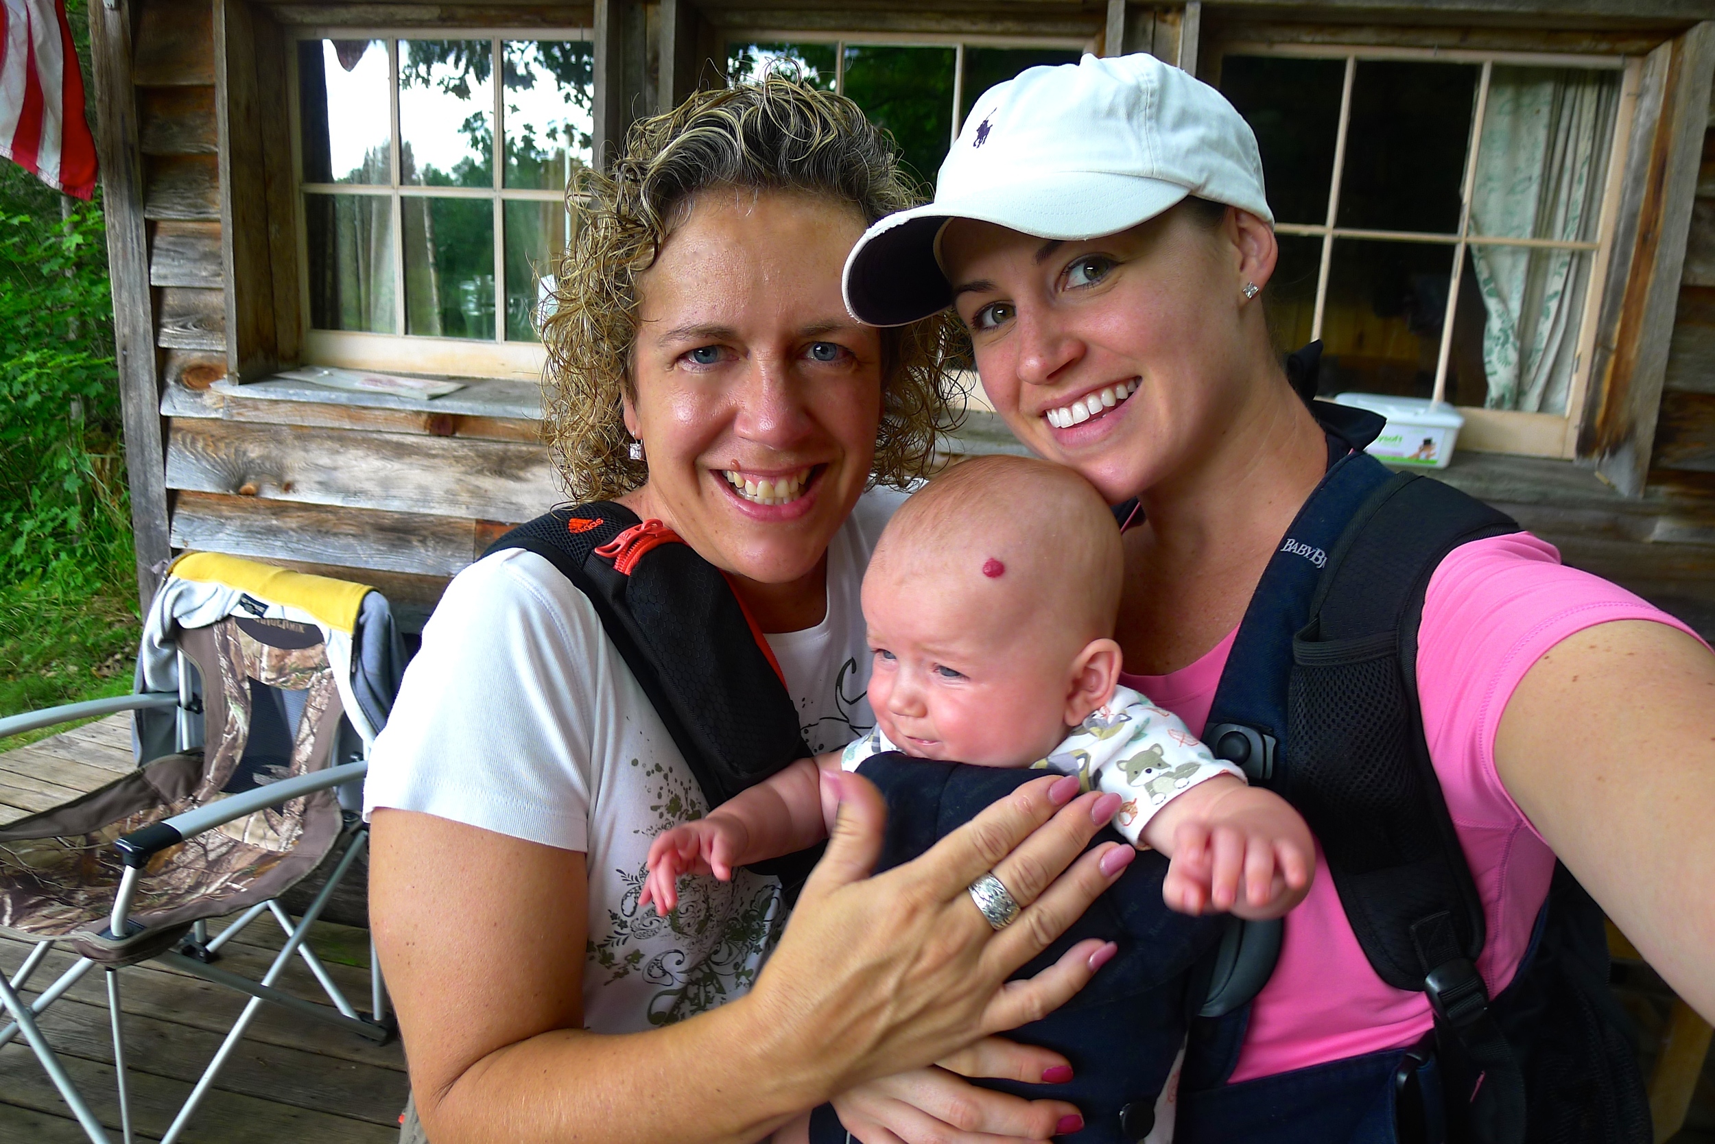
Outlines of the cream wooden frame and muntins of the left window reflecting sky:
M386 184L305 184L304 135L298 120L298 50L302 41L314 39L381 39L388 48L388 117L389 117L389 182ZM400 182L400 41L401 39L487 39L494 53L494 154L490 158L494 182L489 187L429 187ZM501 377L540 381L547 364L547 348L540 341L511 341L506 338L506 202L561 202L566 190L533 190L504 187L506 170L506 86L501 82L499 62L502 45L509 39L563 39L588 41L595 46L590 27L300 27L290 31L286 74L290 86L288 111L292 135L292 192L297 214L298 293L304 314L304 360L314 365L346 369L400 370L412 374L446 374L454 377ZM592 91L593 96L593 91ZM310 194L357 194L391 199L393 213L393 283L394 322L400 333L367 333L350 329L316 329L309 322L309 225L305 202ZM487 199L494 204L494 336L444 338L405 333L405 199Z

